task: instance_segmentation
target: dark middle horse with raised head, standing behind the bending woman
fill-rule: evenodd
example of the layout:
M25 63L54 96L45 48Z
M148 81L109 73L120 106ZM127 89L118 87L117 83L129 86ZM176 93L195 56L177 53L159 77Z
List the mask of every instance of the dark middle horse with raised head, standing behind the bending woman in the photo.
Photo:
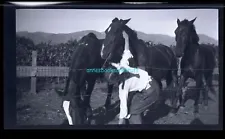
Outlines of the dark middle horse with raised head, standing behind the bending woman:
M129 21L130 19L119 20L118 18L112 20L105 30L106 37L103 41L101 57L108 62L118 63L120 61L125 44L122 32L125 31L129 36L129 47L134 56L135 67L146 70L159 83L161 89L162 79L166 79L167 86L172 84L176 87L177 59L173 51L162 44L147 47L143 40L138 39L137 33L126 25ZM175 94L173 93L173 98Z

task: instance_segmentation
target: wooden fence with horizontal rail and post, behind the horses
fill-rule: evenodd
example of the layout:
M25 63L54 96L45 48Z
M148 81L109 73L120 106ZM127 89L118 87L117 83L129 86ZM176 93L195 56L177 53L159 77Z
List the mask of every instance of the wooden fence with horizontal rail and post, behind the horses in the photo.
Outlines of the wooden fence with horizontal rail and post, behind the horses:
M31 93L36 93L37 77L67 77L68 67L48 67L37 66L37 51L32 51L32 66L17 66L17 77L31 77ZM218 68L215 68L214 74L219 75Z

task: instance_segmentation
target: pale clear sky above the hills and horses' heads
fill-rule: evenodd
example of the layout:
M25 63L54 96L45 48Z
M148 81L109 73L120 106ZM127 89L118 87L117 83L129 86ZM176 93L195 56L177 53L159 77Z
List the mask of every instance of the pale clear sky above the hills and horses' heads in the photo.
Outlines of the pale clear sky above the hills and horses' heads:
M112 19L131 20L127 25L148 34L174 36L177 18L192 20L198 34L218 40L217 9L161 9L161 10L106 10L106 9L17 9L16 31L72 33L82 30L103 32Z

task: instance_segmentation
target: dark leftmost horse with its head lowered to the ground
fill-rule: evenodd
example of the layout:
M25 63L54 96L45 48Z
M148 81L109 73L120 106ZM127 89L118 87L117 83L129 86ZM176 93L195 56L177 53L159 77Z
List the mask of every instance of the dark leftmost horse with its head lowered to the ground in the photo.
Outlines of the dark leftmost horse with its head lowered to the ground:
M92 116L91 93L96 79L104 76L103 73L90 72L88 69L101 68L103 65L104 60L100 56L102 41L93 33L81 38L72 55L65 89L64 91L56 89L56 92L63 96L64 101L70 101L69 109L74 125L90 124ZM109 96L105 105L109 105L108 99L111 98L112 89L113 85L108 84Z

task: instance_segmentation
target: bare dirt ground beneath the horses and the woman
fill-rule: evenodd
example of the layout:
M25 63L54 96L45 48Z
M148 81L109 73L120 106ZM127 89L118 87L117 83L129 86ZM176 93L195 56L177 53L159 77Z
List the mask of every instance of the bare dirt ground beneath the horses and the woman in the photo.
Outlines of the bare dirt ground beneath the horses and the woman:
M195 83L190 81L189 86ZM218 81L214 81L214 85L218 85ZM60 125L65 121L65 113L62 109L62 100L54 92L54 87L60 85L47 85L44 90L37 94L23 92L22 98L17 101L17 124L19 125ZM218 92L218 87L215 87ZM116 115L119 113L118 89L115 88L112 96L112 107L104 114L102 106L106 99L107 86L105 83L95 85L91 97L91 106L94 109L94 117L92 124L117 124ZM188 94L193 96L192 89L188 90ZM150 111L144 118L146 124L218 124L218 93L214 96L209 94L209 107L205 110L200 107L200 114L196 118L193 114L193 103L190 99L185 103L185 109L178 111L174 117L169 117L168 101L164 106L150 108Z

